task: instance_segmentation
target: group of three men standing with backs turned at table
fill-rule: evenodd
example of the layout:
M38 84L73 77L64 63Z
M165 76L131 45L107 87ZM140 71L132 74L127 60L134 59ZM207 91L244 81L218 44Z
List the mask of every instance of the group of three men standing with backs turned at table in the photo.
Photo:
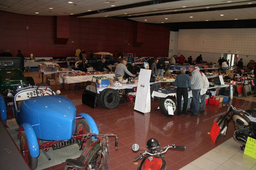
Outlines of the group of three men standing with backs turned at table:
M199 111L199 97L201 99L201 114L204 114L205 110L205 95L207 88L209 87L209 81L207 77L199 70L199 67L190 65L188 71L191 73L191 78L185 72L186 67L180 68L181 74L176 76L174 86L177 87L177 110L178 116L187 115L197 116ZM191 88L193 95L193 104L190 111L187 111L188 106L188 88ZM181 111L181 100L184 100L183 109Z

